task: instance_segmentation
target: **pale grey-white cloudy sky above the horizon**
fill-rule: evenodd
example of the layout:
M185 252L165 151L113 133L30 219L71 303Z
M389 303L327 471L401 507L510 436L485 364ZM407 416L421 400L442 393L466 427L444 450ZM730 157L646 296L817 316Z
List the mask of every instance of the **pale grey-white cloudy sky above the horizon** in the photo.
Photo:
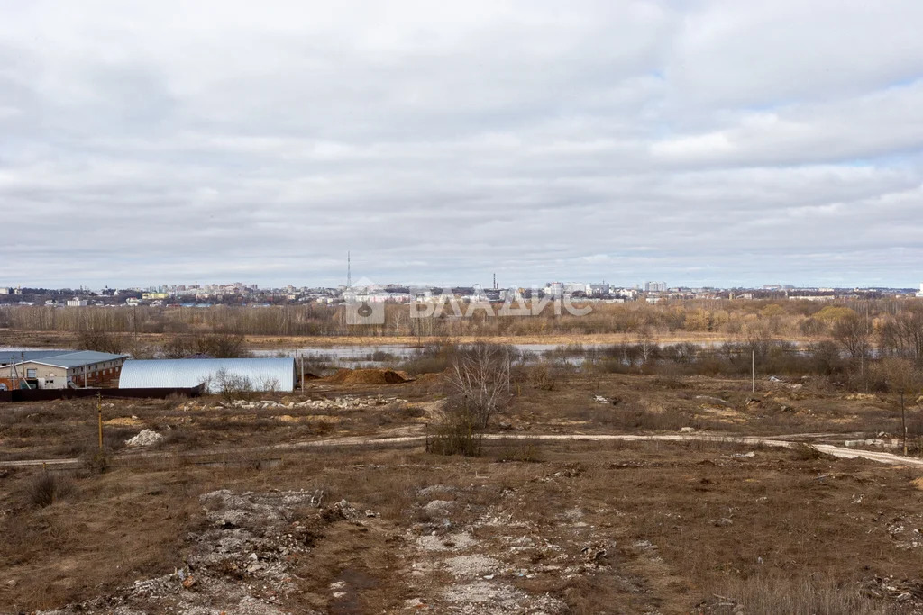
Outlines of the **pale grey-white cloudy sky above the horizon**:
M923 3L0 0L0 285L912 286Z

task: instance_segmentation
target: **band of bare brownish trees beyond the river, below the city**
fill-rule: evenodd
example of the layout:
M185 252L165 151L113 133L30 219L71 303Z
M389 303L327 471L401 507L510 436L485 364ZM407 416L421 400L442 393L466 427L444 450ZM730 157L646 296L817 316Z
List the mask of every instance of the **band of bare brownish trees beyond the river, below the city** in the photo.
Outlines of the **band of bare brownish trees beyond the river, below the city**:
M468 306L462 303L462 309ZM496 312L496 310L495 310ZM656 339L684 333L727 339L838 339L850 355L871 349L883 355L923 357L923 301L855 302L674 301L593 303L575 316L547 309L536 316L499 316L473 310L471 317L442 311L412 318L407 305L385 306L384 325L347 325L343 306L320 304L260 308L5 306L0 328L21 331L118 334L232 334L255 336L541 337L624 334Z

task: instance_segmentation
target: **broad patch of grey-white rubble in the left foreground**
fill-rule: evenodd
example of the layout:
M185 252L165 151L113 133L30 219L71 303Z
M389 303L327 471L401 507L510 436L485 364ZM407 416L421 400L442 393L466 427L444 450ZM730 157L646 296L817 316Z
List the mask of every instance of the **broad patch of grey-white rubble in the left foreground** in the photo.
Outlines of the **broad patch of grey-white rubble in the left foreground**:
M286 598L298 591L294 566L311 550L323 526L341 519L376 516L341 500L323 508L323 491L236 493L199 497L205 525L186 536L190 549L170 574L136 581L113 596L48 611L44 615L148 612L291 612ZM305 610L299 612L314 613Z

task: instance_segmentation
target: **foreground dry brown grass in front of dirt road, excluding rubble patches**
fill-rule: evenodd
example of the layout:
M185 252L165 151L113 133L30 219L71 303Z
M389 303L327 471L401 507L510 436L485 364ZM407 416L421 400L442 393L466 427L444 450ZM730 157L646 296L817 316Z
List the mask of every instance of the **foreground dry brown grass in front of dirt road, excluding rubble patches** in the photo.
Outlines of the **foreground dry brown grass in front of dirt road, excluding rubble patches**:
M713 610L720 602L714 594L745 612L891 612L891 603L859 597L857 583L918 574L888 529L896 518L908 527L923 522L923 493L907 471L800 459L784 450L736 457L751 450L739 444L530 446L485 442L485 455L474 459L329 450L286 455L279 465L253 457L223 467L115 467L88 475L76 479L80 496L67 507L22 501L0 517L0 531L10 537L0 544L0 566L16 581L0 586L0 610L52 608L172 570L190 546L186 535L201 523L198 494L225 488L322 490L325 502L344 498L380 515L385 530L348 523L318 529L299 564L306 594L290 609L344 609L325 602L324 592L346 577L365 579L368 591L354 598L353 611L341 612L396 608L414 597L404 575L417 556L401 537L414 525L444 531L440 518L422 512L432 500L452 503L452 526L477 527L474 536L497 549L488 551L494 557L508 556L497 534L507 530L478 526L485 514L511 514L510 523L563 549L524 550L515 556L522 568L561 552L580 561L583 546L610 545L608 563L589 573L511 581L575 613L723 612ZM21 492L33 476L8 476L0 491ZM641 541L652 550L639 548ZM829 581L813 578L816 571ZM428 586L414 591L437 590Z

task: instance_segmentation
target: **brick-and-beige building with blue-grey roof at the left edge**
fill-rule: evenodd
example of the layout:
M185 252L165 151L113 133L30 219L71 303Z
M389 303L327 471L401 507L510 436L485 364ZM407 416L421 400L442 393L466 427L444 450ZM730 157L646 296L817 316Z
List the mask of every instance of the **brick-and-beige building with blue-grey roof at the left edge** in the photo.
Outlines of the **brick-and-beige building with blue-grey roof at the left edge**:
M93 350L0 350L0 390L113 386L127 358Z

